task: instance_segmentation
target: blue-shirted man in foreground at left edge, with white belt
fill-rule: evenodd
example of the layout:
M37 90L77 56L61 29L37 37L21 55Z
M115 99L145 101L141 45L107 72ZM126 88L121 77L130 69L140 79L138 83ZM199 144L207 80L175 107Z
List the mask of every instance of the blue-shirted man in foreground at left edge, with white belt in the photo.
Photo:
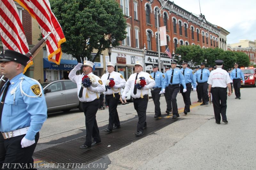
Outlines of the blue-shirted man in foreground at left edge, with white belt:
M38 81L23 74L29 57L12 50L0 52L1 75L8 80L0 93L0 166L33 168L33 152L47 118L47 106ZM10 164L13 163L13 164ZM4 165L7 164L7 167Z

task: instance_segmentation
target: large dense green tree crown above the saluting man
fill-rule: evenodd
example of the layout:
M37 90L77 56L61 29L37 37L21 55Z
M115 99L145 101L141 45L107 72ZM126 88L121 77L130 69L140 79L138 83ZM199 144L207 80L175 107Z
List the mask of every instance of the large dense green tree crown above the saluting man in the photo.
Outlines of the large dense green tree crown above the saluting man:
M52 11L60 22L66 43L62 50L83 63L92 57L93 49L99 56L112 44L126 38L126 22L115 0L50 0Z

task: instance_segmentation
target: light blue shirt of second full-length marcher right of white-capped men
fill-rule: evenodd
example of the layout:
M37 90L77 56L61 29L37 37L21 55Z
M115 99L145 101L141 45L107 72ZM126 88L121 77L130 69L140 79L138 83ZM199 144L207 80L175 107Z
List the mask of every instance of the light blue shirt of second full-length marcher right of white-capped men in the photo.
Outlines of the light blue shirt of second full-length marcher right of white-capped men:
M179 69L174 69L173 70L172 83L171 83L171 77L172 77L172 70L166 71L165 87L167 87L168 85L171 85L171 84L172 85L181 84L181 85L183 85L184 89L187 89L184 76L180 72Z

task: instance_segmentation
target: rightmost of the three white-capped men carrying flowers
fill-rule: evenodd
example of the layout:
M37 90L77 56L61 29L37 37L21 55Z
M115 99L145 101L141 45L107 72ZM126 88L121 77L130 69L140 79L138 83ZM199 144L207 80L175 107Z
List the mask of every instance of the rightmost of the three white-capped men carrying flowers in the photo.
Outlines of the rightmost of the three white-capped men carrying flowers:
M131 96L133 98L133 105L139 116L139 122L137 124L136 136L143 135L143 130L147 128L146 111L148 106L148 89L151 89L156 85L155 80L147 72L143 72L144 64L140 61L135 62L135 73L133 73L127 80L122 95L124 100L125 94L131 89ZM135 83L138 78L144 77L146 85L140 90L136 88Z

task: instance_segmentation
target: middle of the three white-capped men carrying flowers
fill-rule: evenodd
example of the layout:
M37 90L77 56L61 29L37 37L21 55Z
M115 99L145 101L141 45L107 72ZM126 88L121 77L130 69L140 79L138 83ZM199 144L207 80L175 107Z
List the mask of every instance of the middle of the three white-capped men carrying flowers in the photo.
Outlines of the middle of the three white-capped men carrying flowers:
M118 129L121 127L116 107L120 99L121 88L124 88L126 82L122 74L114 71L115 66L115 63L108 62L108 73L101 76L102 83L106 87L104 94L108 103L108 128L105 130L105 132L108 133L111 133L112 129ZM115 85L113 87L106 86L106 82L108 82L108 79L110 78L114 79Z

